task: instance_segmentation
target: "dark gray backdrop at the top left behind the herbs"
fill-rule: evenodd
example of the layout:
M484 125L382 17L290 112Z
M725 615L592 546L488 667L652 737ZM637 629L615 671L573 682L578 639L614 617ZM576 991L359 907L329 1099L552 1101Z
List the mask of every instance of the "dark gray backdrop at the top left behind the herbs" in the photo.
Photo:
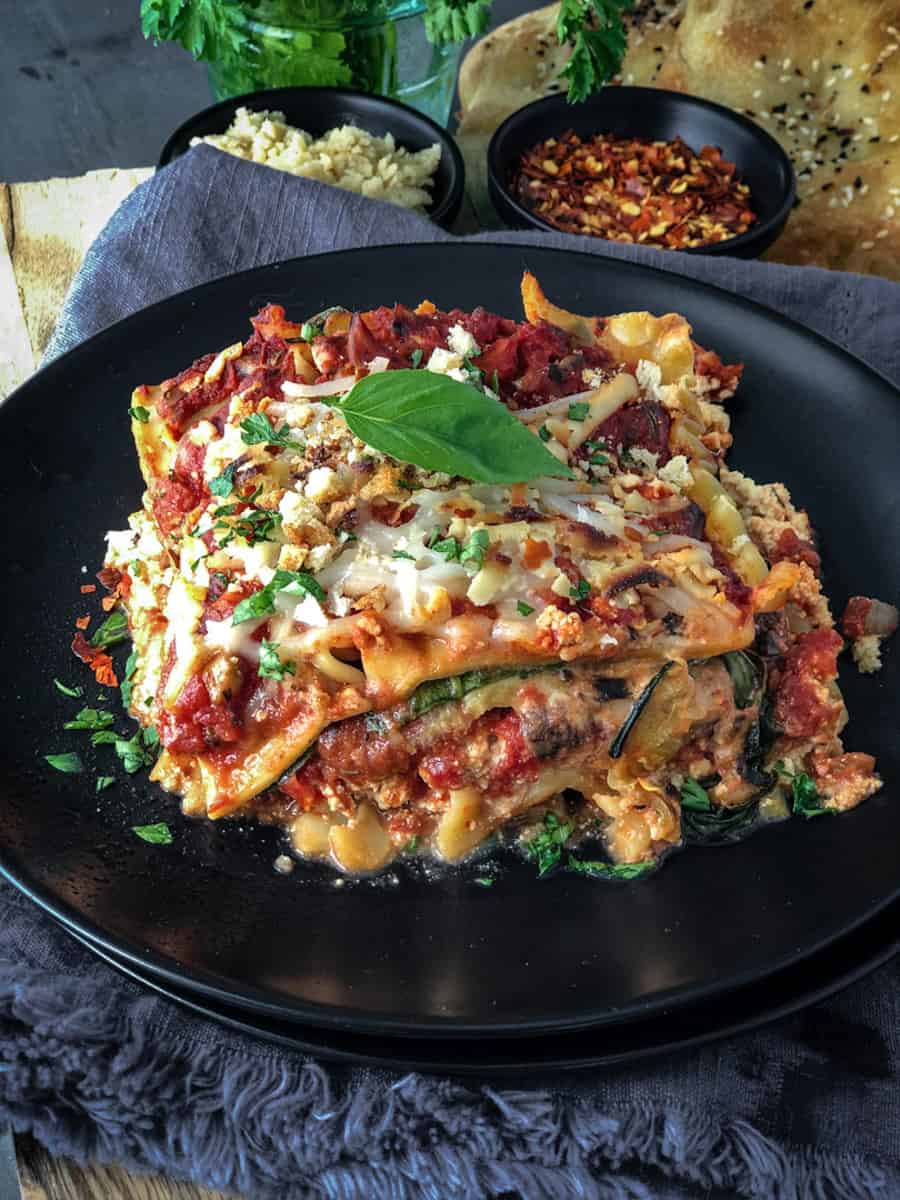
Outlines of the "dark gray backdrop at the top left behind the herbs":
M493 23L536 4L494 0ZM206 68L144 40L139 0L0 0L0 180L152 166L212 102Z

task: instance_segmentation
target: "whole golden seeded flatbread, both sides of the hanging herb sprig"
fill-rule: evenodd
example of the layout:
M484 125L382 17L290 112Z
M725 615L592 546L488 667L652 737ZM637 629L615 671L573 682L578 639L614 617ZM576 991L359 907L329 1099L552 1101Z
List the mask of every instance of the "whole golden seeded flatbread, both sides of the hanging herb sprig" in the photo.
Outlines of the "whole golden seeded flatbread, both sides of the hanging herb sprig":
M557 11L509 22L469 53L463 138L559 90ZM727 104L781 143L799 203L767 258L900 278L900 0L638 4L619 82Z

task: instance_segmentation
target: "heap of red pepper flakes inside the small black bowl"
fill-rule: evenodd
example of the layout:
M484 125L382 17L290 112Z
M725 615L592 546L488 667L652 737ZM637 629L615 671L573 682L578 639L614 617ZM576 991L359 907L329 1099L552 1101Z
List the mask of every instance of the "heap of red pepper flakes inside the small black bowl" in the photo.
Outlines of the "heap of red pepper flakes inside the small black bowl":
M716 146L569 130L528 150L512 192L564 233L684 250L746 233L750 188Z

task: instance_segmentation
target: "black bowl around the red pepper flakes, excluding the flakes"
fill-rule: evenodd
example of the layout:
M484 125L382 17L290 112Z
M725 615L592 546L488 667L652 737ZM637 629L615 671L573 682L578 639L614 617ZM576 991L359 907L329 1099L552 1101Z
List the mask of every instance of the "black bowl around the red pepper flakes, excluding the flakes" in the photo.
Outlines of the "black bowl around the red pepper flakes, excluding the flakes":
M546 138L575 130L580 137L613 133L624 138L683 138L694 150L719 146L750 185L758 220L746 233L709 246L690 246L684 254L727 254L758 258L785 227L794 200L791 160L774 138L739 113L698 96L661 88L604 88L582 104L547 96L526 104L500 125L487 148L487 186L498 215L517 229L553 229L515 198L512 172L521 156Z

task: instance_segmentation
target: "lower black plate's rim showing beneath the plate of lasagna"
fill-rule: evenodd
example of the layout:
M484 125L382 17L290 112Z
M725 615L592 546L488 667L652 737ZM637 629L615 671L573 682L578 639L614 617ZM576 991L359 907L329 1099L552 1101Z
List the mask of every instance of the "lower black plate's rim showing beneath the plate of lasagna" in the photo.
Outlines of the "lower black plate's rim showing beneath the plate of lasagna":
M68 928L65 926L64 928ZM265 1038L317 1058L390 1067L396 1070L438 1072L449 1075L540 1075L541 1072L611 1067L638 1058L671 1055L746 1033L769 1021L815 1004L869 974L900 949L900 904L894 902L847 937L803 962L776 971L758 983L719 998L685 1004L672 1013L617 1026L598 1026L574 1033L530 1038L403 1038L398 1040L343 1030L314 1030L292 1021L248 1014L232 1004L202 1000L190 991L167 986L90 938L68 929L79 942L110 966L202 1016L230 1028Z

